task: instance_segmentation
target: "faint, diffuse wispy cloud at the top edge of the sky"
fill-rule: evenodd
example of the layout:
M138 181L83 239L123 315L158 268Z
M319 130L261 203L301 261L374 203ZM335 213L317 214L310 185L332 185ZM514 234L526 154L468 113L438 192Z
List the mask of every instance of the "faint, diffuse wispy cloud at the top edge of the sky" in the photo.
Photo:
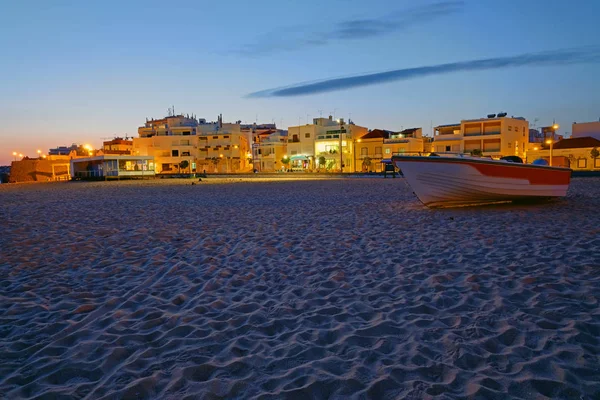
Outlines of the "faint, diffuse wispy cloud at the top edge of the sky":
M440 1L382 17L340 21L327 30L314 26L286 27L259 37L255 43L247 44L239 49L238 53L250 57L263 56L305 47L323 46L334 41L389 35L414 25L425 24L434 19L457 13L463 9L463 5L464 2L458 0Z

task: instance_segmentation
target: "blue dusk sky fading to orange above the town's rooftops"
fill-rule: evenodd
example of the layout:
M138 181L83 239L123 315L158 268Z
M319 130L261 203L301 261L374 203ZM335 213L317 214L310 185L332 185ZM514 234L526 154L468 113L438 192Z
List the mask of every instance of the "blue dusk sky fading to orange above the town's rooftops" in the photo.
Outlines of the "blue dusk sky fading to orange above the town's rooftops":
M431 8L428 8L431 7ZM436 11L440 11L436 13ZM167 108L284 128L330 112L369 128L506 111L600 118L600 64L465 71L298 97L299 82L600 46L600 2L0 0L0 165L12 151L137 134Z

